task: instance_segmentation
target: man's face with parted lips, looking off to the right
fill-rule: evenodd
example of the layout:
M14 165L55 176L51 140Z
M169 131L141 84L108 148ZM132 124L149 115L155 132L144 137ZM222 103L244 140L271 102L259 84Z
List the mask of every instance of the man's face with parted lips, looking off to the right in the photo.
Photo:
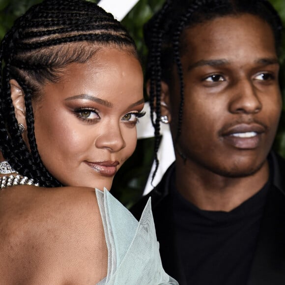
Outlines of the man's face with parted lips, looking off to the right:
M250 14L226 16L188 28L182 38L185 102L176 150L194 167L219 175L255 173L266 161L282 107L270 26ZM173 77L175 139L180 98Z

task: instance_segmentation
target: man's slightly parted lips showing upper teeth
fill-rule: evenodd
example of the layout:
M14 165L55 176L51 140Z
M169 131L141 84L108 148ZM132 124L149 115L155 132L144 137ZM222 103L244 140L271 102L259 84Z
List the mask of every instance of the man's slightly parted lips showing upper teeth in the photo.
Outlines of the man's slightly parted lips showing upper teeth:
M224 141L239 149L254 149L266 133L267 127L258 123L240 123L230 126L222 132Z

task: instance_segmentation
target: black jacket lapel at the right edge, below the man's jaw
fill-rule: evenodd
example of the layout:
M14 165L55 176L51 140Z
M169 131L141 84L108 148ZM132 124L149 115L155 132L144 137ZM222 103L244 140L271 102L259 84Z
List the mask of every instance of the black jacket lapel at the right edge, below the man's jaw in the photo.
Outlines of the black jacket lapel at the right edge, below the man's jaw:
M285 284L285 162L270 153L273 186L268 193L248 285Z

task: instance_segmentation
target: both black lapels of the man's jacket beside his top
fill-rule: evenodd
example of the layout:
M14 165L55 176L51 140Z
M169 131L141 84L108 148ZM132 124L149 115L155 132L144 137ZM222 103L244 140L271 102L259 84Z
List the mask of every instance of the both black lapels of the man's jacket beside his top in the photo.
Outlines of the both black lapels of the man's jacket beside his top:
M272 186L265 204L248 285L285 285L285 161L274 152L270 152L268 159ZM167 237L164 235L159 238L159 240L164 240L161 244L161 253L167 255L164 257L164 267L170 275L179 276L183 285L187 283L183 281L183 274L179 270L179 264L173 266L173 260L176 257L175 248L173 247L175 231L171 224L169 191L171 177L174 172L175 164L173 163L165 173L161 183L152 192L151 197L154 215L158 215L156 221L160 224L157 227L169 229L168 233L164 232ZM165 223L168 224L165 225Z

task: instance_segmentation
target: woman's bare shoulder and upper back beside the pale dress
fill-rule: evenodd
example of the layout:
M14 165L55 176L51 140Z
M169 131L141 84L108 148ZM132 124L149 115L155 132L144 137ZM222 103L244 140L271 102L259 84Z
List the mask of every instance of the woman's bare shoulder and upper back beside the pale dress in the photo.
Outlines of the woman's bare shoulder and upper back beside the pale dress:
M2 190L0 243L0 277L7 284L94 285L107 273L108 252L94 189Z

